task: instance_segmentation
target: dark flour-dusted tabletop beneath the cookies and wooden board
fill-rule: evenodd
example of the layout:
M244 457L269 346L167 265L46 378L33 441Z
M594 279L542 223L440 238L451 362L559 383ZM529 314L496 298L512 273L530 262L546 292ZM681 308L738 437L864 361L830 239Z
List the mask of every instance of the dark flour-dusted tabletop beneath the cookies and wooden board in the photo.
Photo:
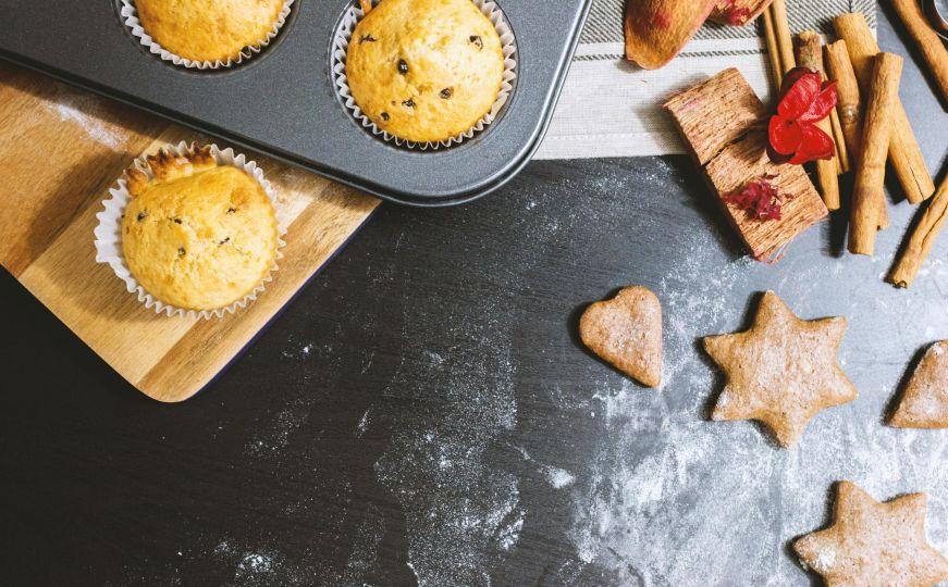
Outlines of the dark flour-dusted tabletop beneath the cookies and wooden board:
M882 43L903 52L884 25ZM932 170L948 115L915 66L902 97ZM898 199L898 195L895 196ZM948 433L879 419L948 338L948 239L918 285L882 283L841 223L776 266L740 259L686 158L537 162L459 209L383 205L242 360L178 405L147 400L0 274L0 563L9 584L807 585L787 544L830 485L925 490L948 550ZM665 386L578 344L626 284L665 311ZM715 424L705 334L777 290L846 315L857 402L800 448ZM8 580L4 580L7 583Z

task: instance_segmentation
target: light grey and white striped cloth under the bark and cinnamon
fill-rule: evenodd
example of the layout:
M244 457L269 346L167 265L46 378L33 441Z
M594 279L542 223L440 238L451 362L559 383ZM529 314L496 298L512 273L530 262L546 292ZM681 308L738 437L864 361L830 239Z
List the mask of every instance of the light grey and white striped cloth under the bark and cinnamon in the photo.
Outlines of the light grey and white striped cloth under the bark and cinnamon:
M649 72L624 60L625 0L593 0L569 76L535 159L580 159L681 153L662 111L670 93L737 67L761 98L771 98L770 62L759 26L707 23L665 67ZM863 12L876 26L875 0L790 0L793 33L832 34L833 16Z

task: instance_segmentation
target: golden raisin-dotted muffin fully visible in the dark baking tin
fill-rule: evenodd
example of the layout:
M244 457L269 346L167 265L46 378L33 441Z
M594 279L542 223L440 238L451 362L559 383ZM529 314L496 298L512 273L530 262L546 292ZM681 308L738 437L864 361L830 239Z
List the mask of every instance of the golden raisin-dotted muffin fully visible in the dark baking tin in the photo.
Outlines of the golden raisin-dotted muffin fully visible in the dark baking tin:
M416 142L470 130L501 91L504 52L471 0L382 0L346 54L353 99L379 128Z

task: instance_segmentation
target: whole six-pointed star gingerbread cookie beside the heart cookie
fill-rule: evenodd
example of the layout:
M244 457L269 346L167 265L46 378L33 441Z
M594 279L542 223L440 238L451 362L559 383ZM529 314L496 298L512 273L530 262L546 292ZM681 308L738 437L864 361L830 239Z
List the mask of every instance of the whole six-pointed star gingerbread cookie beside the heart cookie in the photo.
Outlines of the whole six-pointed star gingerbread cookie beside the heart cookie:
M704 339L727 375L712 419L758 420L792 446L816 412L857 397L836 363L845 332L846 319L800 320L767 291L750 330Z

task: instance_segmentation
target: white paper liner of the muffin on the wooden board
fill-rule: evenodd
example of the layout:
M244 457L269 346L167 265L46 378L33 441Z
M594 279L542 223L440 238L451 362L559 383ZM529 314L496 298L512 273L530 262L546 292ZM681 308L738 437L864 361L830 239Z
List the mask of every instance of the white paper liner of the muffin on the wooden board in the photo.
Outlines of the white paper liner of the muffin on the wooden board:
M185 141L181 141L176 146L165 146L164 150L174 155L183 155L195 148L195 143L188 145ZM276 212L276 262L279 262L280 259L283 259L283 253L280 249L286 246L283 237L286 235L287 218L285 217L283 208L276 201L276 191L273 189L273 186L270 185L270 182L263 178L263 171L257 166L257 163L255 161L248 161L244 154L235 154L234 150L231 148L221 150L217 145L211 145L211 154L218 165L232 165L246 172L250 177L256 179L263 188L263 191L267 192L267 198L270 199L270 203L273 204L273 209ZM135 168L147 174L150 178L151 170L146 164L145 159L146 155L139 157L135 160L133 165ZM99 221L99 224L95 229L96 262L106 263L111 266L112 271L115 272L115 275L125 282L125 289L127 289L130 294L137 294L138 301L143 302L145 308L155 310L156 313L163 313L168 316L178 315L188 319L221 319L225 313L233 314L238 309L246 308L248 303L256 300L257 296L259 296L266 288L267 283L273 279L273 272L280 268L280 265L274 262L270 273L268 273L259 284L257 284L257 287L244 296L243 299L224 308L197 311L176 308L164 303L146 291L145 288L138 284L132 275L132 272L128 270L128 266L125 264L125 255L122 252L122 215L125 212L125 207L132 199L128 193L126 178L124 176L120 178L114 187L109 190L109 193L112 197L102 202L106 210L96 214L96 218Z

